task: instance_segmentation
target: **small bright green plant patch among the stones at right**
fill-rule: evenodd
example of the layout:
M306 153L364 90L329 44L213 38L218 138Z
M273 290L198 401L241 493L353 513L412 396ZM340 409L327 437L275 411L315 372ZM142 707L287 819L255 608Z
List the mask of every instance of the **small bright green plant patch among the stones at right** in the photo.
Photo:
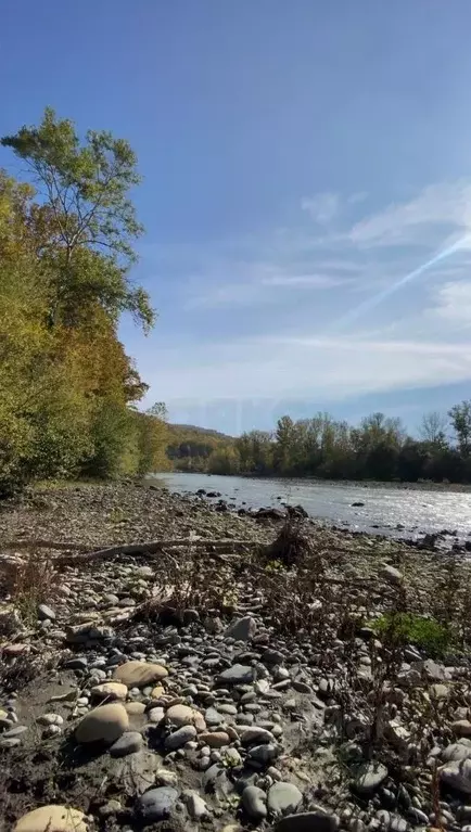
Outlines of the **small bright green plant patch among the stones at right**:
M443 656L451 643L447 627L435 618L412 613L387 613L377 618L371 628L390 644L415 644L432 657Z

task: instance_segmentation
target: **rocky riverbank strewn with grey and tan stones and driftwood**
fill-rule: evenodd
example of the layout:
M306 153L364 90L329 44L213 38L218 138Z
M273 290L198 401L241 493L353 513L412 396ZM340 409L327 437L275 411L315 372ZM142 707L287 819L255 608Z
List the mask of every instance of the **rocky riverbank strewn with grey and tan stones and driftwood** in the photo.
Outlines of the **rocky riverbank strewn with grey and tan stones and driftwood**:
M1 511L0 559L5 829L470 822L461 555L90 484Z

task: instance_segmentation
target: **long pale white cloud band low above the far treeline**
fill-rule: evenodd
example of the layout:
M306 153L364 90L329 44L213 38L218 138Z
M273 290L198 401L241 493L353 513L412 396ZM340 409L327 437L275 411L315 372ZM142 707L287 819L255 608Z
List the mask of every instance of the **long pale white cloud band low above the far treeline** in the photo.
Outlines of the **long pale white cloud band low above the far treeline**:
M215 397L333 400L471 377L471 342L305 335L194 345L184 361L178 350L164 350L161 359L158 389L170 404L181 397L182 389L195 401ZM152 376L153 369L149 372Z

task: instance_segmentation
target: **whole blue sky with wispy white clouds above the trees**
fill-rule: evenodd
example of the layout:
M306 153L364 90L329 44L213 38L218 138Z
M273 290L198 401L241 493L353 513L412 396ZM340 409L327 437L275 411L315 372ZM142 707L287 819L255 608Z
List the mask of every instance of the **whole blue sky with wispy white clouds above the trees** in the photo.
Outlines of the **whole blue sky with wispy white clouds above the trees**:
M49 104L138 154L149 402L238 433L471 396L470 28L469 0L3 4L0 132Z

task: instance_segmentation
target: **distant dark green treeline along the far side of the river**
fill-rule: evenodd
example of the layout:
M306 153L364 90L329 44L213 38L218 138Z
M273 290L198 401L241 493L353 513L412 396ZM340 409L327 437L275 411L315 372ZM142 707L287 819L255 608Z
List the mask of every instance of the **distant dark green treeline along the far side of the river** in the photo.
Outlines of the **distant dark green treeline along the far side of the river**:
M432 412L420 438L408 436L398 419L373 413L359 426L327 413L279 419L275 431L187 437L173 455L179 471L253 476L313 476L327 479L471 482L471 401L447 417ZM167 450L168 453L168 450Z

